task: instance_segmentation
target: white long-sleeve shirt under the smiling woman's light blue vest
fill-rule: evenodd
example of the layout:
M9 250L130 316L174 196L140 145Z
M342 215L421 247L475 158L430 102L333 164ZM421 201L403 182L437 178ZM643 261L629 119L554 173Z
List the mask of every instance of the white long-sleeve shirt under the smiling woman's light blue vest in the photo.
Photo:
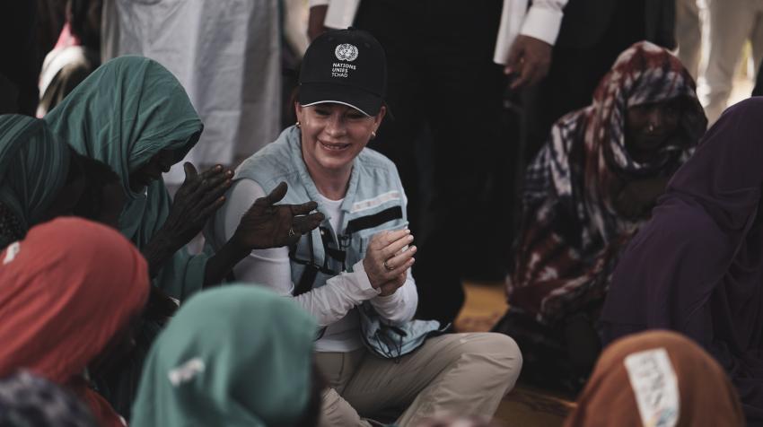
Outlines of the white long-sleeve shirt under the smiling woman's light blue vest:
M251 179L241 179L233 184L227 196L228 202L213 218L211 232L207 238L215 240L219 247L229 240L241 221L241 216L252 203L265 196L264 189ZM317 201L328 213L334 231L342 223L340 209L342 200L321 197ZM237 282L258 283L273 291L291 296L294 292L292 270L288 248L253 250L250 255L233 268ZM408 270L408 279L397 292L382 296L373 288L365 274L363 262L353 266L353 272L343 272L319 288L294 297L306 311L310 312L321 327L327 327L316 342L318 352L351 352L363 346L360 335L360 317L357 307L370 301L373 308L390 324L403 323L413 318L418 294L416 283Z

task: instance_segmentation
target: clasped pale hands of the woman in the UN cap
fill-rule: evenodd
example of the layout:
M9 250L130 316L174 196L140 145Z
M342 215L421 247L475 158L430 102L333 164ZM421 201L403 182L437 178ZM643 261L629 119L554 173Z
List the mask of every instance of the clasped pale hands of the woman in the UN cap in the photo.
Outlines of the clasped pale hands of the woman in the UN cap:
M409 230L399 230L382 231L368 242L363 267L373 288L379 289L382 295L391 295L405 283L417 250L415 246L408 247L412 241Z

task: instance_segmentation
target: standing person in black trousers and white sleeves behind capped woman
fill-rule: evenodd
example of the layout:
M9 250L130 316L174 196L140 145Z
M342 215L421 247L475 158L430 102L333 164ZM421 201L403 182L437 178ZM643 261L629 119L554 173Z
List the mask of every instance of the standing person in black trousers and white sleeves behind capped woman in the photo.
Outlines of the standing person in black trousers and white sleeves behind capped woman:
M309 35L355 25L379 39L389 65L387 105L394 117L370 146L397 166L408 195L412 233L419 236L417 318L443 325L458 315L467 248L500 242L492 212L494 159L511 144L501 137L505 78L513 88L548 72L566 0L312 0ZM503 9L502 9L503 8ZM503 10L503 13L502 13ZM505 68L502 68L501 65ZM416 142L428 126L431 153L417 159ZM431 162L432 188L421 188L417 163ZM426 223L422 194L431 195ZM422 233L422 228L429 232ZM490 244L490 243L487 243ZM443 268L447 266L447 268Z

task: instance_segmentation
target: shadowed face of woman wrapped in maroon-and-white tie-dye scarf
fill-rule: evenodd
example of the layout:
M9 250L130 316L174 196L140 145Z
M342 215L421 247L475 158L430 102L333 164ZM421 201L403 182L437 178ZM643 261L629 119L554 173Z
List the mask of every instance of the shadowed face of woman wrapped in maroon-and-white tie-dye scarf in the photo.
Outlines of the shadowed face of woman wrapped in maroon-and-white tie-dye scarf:
M648 161L676 133L682 106L676 98L627 109L626 148L636 161Z

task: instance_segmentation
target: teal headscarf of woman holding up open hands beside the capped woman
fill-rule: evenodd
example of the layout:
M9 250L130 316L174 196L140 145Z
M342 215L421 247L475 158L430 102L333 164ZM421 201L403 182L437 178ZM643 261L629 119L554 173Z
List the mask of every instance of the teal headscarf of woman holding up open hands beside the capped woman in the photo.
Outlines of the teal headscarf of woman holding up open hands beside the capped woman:
M182 160L197 143L202 123L178 79L145 57L118 57L101 65L51 110L45 121L75 150L103 161L122 179L127 205L119 229L143 248L170 213L160 179L145 194L129 187L130 172L161 150ZM182 299L201 288L206 257L181 249L154 282Z

